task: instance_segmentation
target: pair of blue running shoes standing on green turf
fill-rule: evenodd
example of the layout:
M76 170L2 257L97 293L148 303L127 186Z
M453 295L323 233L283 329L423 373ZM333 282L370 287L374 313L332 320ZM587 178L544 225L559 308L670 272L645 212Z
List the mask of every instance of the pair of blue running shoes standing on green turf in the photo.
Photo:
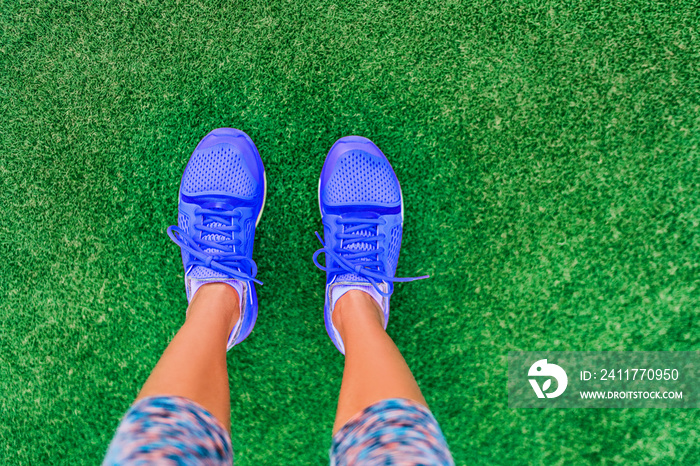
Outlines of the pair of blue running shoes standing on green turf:
M242 342L253 330L258 315L253 261L255 227L265 206L265 167L258 149L243 131L219 128L195 148L182 176L178 224L168 228L180 246L185 289L190 301L199 287L211 282L236 289L241 317L227 349ZM369 139L347 136L331 147L318 185L323 218L322 248L314 264L326 272L324 318L326 330L338 350L343 341L333 325L335 302L347 291L370 294L389 320L389 298L394 282L423 277L397 278L401 249L403 199L391 164ZM325 253L325 265L318 257Z

